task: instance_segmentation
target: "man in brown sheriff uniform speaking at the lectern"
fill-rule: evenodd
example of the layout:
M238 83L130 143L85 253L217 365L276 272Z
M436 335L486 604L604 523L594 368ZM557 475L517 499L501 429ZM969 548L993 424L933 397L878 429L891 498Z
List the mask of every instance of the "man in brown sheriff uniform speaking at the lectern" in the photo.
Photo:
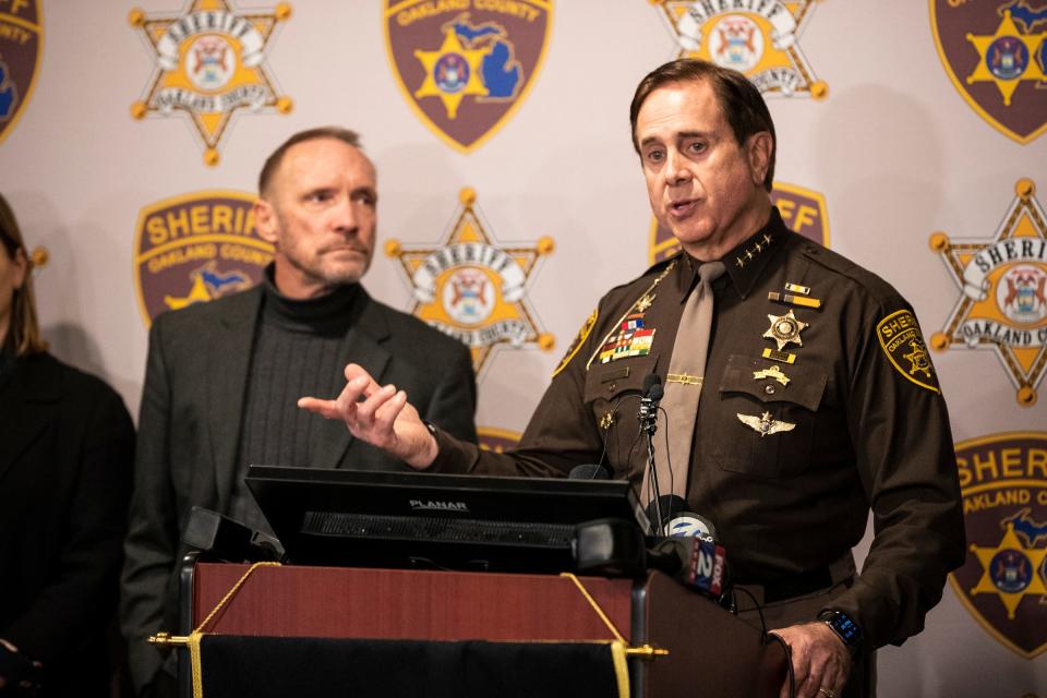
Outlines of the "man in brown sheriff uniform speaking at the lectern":
M782 224L768 196L773 124L744 76L667 63L640 83L630 116L651 207L683 252L600 301L516 449L430 430L402 392L356 366L338 400L300 405L420 469L564 476L602 461L639 488L645 380L670 378L700 269L722 263L688 505L715 524L736 581L790 645L796 695L871 695L871 650L923 628L964 555L949 419L912 309ZM855 576L870 509L876 534Z

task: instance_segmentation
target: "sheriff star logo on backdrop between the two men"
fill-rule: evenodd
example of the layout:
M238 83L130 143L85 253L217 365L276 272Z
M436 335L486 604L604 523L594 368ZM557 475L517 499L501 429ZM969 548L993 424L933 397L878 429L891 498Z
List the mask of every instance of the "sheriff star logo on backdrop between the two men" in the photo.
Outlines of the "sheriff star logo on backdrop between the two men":
M389 240L385 252L400 261L411 287L408 312L467 345L480 375L496 348L553 348L553 336L542 332L527 298L527 284L554 243L540 238L535 244L502 246L481 220L476 192L462 189L459 201L461 209L441 245Z

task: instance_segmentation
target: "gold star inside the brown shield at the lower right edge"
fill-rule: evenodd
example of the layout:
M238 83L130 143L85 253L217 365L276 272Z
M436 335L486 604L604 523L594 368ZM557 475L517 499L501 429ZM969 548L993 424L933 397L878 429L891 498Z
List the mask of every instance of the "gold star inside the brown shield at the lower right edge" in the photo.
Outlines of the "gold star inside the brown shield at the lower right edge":
M971 595L997 594L1007 609L1008 618L1014 618L1018 604L1025 597L1047 594L1047 587L1037 571L1047 556L1047 549L1025 549L1014 533L1013 522L1007 525L1007 533L999 545L971 545L971 552L982 565L982 577L971 589Z

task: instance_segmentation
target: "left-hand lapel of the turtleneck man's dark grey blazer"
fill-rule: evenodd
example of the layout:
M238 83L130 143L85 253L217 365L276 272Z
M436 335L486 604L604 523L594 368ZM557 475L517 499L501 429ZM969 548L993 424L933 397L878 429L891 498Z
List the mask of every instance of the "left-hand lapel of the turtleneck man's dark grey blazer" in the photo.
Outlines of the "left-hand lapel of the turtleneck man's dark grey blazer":
M239 465L237 449L246 399L248 372L251 370L251 349L261 306L262 289L258 287L238 297L237 302L231 302L219 318L218 330L206 349L207 424L215 486L222 512L229 505Z

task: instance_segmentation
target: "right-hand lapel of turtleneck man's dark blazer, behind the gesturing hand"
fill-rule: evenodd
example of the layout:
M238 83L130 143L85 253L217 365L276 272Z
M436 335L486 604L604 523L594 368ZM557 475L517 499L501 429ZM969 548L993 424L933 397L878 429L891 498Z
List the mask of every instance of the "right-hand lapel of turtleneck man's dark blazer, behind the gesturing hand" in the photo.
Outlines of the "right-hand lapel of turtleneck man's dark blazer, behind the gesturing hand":
M345 387L341 370L348 363L359 363L376 382L382 383L390 354L385 348L389 336L389 326L381 306L371 300L363 287L352 310L353 320L349 332L338 350L339 374L334 380L332 396L338 395ZM344 464L346 449L352 442L352 435L338 420L317 418L316 438L311 448L312 466L315 468L339 468ZM351 464L347 464L351 465Z

